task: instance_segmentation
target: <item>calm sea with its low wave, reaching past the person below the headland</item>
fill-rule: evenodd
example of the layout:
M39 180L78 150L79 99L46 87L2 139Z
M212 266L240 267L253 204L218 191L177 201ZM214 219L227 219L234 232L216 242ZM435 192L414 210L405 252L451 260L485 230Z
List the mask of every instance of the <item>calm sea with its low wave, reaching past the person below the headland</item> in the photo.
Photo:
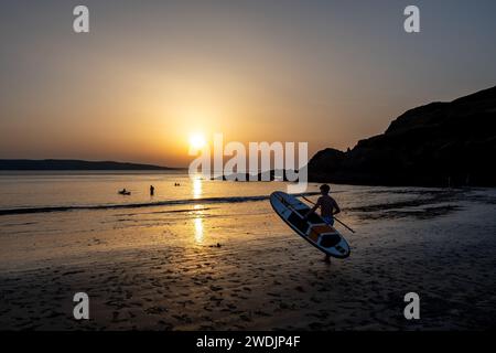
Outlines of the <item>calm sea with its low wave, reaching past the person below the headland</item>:
M176 185L179 184L179 185ZM150 196L150 185L155 188ZM285 182L225 182L190 178L184 171L168 172L2 172L0 173L0 211L19 208L33 213L50 207L111 207L114 205L168 206L266 201L277 190L287 190ZM127 189L131 195L118 194ZM309 193L319 191L310 183ZM429 200L442 189L332 185L335 197L345 207L363 207L387 203Z

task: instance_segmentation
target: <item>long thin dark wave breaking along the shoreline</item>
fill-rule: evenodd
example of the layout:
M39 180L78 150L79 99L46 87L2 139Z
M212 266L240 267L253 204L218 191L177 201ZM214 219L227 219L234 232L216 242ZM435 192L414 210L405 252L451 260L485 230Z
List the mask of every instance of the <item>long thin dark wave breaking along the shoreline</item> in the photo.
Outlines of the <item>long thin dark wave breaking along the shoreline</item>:
M295 196L317 195L317 192L306 192L294 194ZM33 214L33 213L51 213L51 212L68 212L68 211L98 211L98 210L119 210L119 208L141 208L155 206L173 206L187 204L213 204L213 203L241 203L269 200L270 195L258 196L227 196L227 197L205 197L205 199L185 199L185 200L168 200L145 203L125 203L125 204L99 204L99 205L73 205L73 206L41 206L41 207L22 207L22 208L4 208L0 210L2 215Z

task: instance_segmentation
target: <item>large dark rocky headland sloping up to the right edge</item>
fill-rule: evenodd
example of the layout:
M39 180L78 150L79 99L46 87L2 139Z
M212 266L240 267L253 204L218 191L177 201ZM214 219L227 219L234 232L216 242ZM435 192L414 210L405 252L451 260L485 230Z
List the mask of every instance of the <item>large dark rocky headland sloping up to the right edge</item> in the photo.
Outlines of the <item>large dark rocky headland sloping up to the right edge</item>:
M316 182L496 186L496 87L408 110L385 133L309 162Z

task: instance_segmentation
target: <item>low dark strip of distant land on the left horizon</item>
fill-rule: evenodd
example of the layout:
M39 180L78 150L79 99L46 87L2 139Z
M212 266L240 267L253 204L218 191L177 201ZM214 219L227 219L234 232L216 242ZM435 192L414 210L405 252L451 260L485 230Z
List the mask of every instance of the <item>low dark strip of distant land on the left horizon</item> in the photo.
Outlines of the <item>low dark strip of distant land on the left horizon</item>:
M0 170L176 170L177 168L121 163L111 161L83 161L63 159L0 159Z

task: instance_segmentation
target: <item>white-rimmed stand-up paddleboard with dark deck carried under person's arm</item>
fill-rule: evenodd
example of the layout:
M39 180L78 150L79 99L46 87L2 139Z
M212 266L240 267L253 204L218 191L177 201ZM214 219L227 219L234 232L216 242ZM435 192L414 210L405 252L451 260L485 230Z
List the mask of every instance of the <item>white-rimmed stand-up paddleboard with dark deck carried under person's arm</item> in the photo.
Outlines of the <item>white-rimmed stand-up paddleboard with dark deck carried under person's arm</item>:
M282 191L270 195L273 211L301 237L321 252L337 258L349 256L349 245L334 227L327 225L316 213L304 218L310 207Z

